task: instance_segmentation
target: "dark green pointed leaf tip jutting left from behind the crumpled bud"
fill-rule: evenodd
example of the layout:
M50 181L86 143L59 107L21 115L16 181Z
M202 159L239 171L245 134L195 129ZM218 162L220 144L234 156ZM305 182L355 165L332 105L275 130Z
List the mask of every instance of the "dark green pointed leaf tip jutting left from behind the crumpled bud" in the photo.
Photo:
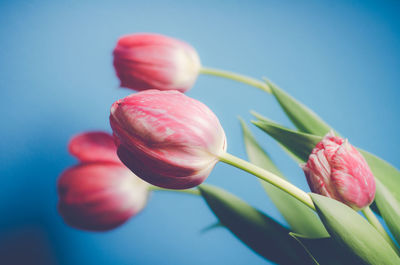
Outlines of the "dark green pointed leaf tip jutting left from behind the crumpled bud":
M267 118L252 121L254 125L278 141L298 162L305 162L322 137L283 127Z

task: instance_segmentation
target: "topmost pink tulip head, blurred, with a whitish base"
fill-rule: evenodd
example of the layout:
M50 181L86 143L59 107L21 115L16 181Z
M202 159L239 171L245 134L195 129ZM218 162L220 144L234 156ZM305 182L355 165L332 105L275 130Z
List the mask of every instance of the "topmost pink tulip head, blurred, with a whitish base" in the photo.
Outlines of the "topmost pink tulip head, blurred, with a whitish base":
M114 49L114 68L121 87L189 90L197 79L201 64L189 44L158 34L132 34L118 40Z

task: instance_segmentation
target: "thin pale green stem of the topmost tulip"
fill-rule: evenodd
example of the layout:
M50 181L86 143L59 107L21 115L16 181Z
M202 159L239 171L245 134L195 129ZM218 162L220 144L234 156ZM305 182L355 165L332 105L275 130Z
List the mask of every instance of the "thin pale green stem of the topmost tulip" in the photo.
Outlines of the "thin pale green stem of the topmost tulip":
M241 83L245 83L250 86L257 87L257 88L261 89L262 91L271 93L271 89L269 88L269 86L266 83L264 83L260 80L254 79L252 77L245 76L245 75L241 75L241 74L237 74L237 73L233 73L233 72L229 72L229 71L224 71L224 70L219 70L219 69L215 69L215 68L208 68L208 67L202 67L200 69L200 73L232 79L232 80L235 80L235 81L238 81Z

